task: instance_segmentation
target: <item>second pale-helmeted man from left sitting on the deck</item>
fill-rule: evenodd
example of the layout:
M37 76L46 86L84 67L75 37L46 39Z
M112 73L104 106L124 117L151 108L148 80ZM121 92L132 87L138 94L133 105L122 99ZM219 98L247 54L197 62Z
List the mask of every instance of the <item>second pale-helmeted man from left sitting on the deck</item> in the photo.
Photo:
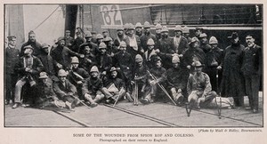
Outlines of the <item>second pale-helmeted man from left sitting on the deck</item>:
M67 108L75 108L79 101L76 87L66 78L67 73L64 69L59 70L58 77L60 80L53 83L53 91L65 102Z

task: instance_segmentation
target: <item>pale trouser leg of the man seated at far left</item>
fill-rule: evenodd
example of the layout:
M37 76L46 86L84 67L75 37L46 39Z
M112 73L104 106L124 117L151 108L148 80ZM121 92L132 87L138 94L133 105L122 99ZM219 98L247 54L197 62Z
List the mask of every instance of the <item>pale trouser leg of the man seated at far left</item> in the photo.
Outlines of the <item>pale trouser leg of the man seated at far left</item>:
M20 99L21 98L21 89L22 89L22 86L26 83L29 83L30 87L33 87L36 84L35 81L29 81L28 82L28 80L26 80L25 77L21 78L15 85L15 94L14 94L15 95L15 98L14 98L15 102L18 102L18 103L21 102L21 99Z

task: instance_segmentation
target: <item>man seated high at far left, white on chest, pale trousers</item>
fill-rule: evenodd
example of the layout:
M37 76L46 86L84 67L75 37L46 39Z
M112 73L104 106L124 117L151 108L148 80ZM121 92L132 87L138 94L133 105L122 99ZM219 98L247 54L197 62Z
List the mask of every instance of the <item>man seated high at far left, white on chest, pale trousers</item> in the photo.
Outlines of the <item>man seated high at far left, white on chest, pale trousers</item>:
M24 47L24 56L20 57L20 60L15 65L15 72L17 72L20 76L15 85L15 104L12 108L18 108L20 105L20 97L22 86L25 84L29 84L25 90L28 92L27 97L23 98L23 103L27 105L32 105L34 102L33 90L36 86L36 79L44 68L41 60L39 60L36 56L32 55L34 49L32 46L27 45ZM35 93L36 94L36 93ZM25 94L26 95L26 94Z

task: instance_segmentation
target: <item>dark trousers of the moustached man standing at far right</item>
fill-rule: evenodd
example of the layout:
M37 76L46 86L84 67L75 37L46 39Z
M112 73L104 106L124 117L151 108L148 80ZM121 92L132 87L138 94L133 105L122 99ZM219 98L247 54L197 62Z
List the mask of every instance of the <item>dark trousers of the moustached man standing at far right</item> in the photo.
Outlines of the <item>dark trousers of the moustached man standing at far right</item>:
M249 106L255 110L259 108L259 88L260 76L245 76L246 92L248 95Z

